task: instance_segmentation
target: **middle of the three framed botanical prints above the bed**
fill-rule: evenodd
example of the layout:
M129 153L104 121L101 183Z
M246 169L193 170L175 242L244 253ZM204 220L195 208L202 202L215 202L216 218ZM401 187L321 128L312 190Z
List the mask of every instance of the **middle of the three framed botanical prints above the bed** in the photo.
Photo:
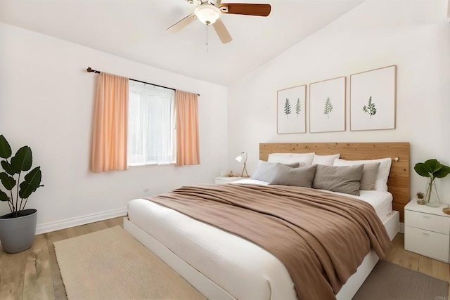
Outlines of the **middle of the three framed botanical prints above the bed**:
M309 132L345 131L345 82L338 77L309 84Z

